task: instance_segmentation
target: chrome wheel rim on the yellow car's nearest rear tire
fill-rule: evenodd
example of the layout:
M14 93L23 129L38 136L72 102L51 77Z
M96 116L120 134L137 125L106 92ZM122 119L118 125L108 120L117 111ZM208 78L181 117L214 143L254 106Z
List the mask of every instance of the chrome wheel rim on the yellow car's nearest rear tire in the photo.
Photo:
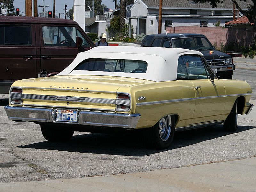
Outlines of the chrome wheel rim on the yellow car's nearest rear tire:
M160 119L159 121L159 135L161 137L161 140L166 141L169 139L171 134L171 128L172 128L172 120L171 116L165 116Z

